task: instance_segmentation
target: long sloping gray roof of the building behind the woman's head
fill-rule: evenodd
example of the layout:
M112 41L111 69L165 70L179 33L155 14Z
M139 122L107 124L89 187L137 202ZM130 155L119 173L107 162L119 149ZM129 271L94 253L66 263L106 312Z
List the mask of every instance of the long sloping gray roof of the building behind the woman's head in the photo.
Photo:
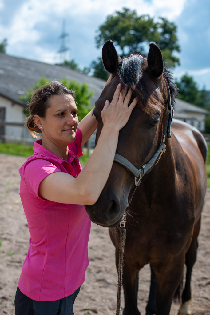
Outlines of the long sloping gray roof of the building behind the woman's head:
M93 106L105 85L104 80L89 77L68 67L50 65L0 53L0 95L7 99L25 106L24 102L19 99L20 95L25 94L27 89L33 87L35 81L39 81L42 76L50 81L67 77L69 80L87 83L89 90L94 91L91 98Z

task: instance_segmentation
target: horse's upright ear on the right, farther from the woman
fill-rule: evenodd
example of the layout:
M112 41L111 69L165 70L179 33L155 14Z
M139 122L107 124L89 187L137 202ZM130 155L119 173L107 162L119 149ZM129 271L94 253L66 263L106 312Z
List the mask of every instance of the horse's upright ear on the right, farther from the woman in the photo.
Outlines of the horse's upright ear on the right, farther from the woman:
M147 56L147 64L151 75L156 78L162 75L164 69L162 52L160 48L154 43L150 43L150 50Z

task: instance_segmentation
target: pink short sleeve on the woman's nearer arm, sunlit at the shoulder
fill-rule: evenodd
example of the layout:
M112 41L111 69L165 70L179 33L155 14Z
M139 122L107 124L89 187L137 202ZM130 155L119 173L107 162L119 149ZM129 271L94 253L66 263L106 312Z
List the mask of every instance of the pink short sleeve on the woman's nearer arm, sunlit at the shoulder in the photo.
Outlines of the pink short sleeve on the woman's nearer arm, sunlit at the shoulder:
M29 192L36 197L38 196L38 189L41 181L49 174L61 172L61 170L44 159L36 159L27 163L24 167L22 176Z

